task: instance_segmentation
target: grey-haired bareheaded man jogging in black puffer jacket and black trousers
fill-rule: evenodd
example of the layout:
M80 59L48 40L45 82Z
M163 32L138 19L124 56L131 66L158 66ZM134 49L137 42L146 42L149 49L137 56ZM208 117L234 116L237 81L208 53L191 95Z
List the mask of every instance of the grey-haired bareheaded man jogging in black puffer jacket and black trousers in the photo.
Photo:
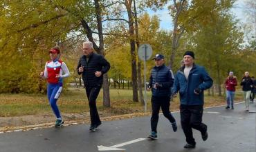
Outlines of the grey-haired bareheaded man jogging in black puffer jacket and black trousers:
M100 93L100 88L103 83L103 74L109 71L109 62L99 54L93 53L93 43L86 41L83 43L84 55L81 56L77 72L82 74L86 95L89 100L90 116L91 116L91 131L101 124L100 116L96 107L96 98Z

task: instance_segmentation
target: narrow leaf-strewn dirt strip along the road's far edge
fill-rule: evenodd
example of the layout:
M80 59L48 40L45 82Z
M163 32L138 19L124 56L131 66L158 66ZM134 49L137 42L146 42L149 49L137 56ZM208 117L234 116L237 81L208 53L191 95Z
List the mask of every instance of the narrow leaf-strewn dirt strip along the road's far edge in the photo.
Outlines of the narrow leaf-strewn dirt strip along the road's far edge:
M218 105L226 105L224 101L222 102L211 102L205 103L204 107L212 107ZM172 111L179 111L179 104L172 104ZM111 109L113 111L113 109ZM102 121L111 120L122 120L127 118L134 118L138 116L150 116L151 111L144 113L143 111L125 111L122 114L111 113L111 110L104 109L99 111L100 119ZM123 111L122 111L123 112ZM126 114L129 113L129 114ZM87 113L62 113L62 118L64 119L65 126L72 124L90 124L90 115ZM44 113L41 115L30 115L30 116L14 116L14 117L0 117L0 133L12 132L12 131L26 131L30 129L41 129L47 127L54 127L55 116L53 113Z

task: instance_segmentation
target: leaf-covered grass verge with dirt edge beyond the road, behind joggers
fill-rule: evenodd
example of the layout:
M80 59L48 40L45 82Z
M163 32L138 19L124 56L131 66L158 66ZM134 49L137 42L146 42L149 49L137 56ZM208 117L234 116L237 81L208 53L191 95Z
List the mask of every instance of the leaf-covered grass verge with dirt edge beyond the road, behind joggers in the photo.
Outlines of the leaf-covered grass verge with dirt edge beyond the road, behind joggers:
M147 113L140 102L132 101L132 90L110 89L111 107L102 106L102 91L98 96L98 111L103 120L116 120L134 116L150 115L151 92L147 92ZM237 91L236 101L242 97ZM89 122L89 105L84 89L69 88L62 92L58 105L66 121ZM205 107L226 105L224 96L205 95ZM171 111L179 110L179 98L171 102ZM24 126L54 122L55 116L48 105L46 95L41 94L0 94L0 127Z

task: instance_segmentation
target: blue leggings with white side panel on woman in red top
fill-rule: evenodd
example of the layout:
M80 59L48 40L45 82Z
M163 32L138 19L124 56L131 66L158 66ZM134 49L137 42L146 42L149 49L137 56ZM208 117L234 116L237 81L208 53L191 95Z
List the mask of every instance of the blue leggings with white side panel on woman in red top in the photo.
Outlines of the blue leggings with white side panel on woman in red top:
M48 83L47 86L47 96L49 100L49 104L51 105L51 108L53 109L53 113L55 114L56 118L61 118L60 116L60 110L57 107L57 99L60 96L60 93L62 92L62 83Z

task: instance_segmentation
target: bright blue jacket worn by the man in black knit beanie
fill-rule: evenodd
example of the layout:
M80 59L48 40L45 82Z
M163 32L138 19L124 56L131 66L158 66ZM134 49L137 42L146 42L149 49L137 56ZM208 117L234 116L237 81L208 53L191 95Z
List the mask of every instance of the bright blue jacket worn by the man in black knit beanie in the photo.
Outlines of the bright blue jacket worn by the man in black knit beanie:
M184 74L185 66L176 73L173 92L179 91L181 105L203 105L203 90L212 87L213 80L204 67L193 65L188 75ZM200 89L200 94L194 94L194 89Z

